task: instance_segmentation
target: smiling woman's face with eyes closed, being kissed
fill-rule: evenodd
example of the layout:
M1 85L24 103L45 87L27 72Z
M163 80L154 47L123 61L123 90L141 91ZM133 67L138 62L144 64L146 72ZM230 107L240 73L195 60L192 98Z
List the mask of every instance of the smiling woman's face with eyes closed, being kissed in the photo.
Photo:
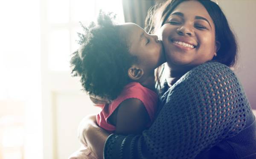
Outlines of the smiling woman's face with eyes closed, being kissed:
M180 3L160 28L160 35L172 69L200 65L216 56L215 26L198 1Z

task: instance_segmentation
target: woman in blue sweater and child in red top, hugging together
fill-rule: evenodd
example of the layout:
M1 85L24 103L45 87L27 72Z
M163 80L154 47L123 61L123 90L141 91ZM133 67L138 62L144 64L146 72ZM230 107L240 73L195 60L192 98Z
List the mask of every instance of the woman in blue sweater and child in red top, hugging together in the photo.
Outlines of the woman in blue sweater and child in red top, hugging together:
M150 13L145 31L101 13L73 53L72 75L102 111L80 123L70 158L256 159L256 120L220 7L168 0Z

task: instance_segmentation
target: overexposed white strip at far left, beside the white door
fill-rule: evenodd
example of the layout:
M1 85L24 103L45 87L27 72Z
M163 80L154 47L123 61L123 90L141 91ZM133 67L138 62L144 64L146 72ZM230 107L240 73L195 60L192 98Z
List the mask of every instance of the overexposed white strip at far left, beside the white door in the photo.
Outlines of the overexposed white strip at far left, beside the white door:
M39 0L0 1L0 159L42 159Z

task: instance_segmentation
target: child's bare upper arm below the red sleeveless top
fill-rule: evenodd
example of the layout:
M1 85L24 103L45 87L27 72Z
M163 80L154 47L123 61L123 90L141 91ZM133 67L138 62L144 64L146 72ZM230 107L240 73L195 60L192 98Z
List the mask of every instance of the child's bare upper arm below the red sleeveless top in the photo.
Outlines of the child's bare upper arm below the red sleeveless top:
M150 121L143 102L137 98L124 100L112 115L117 134L140 134Z

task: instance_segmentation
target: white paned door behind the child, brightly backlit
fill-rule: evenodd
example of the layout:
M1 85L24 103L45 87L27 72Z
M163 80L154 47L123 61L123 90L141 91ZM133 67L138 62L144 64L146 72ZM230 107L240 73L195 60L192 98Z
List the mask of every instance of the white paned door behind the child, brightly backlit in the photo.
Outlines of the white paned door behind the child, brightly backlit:
M44 159L65 159L80 147L77 126L98 112L78 78L70 76L70 54L79 48L79 21L95 21L99 9L124 22L120 0L41 0L41 67Z

